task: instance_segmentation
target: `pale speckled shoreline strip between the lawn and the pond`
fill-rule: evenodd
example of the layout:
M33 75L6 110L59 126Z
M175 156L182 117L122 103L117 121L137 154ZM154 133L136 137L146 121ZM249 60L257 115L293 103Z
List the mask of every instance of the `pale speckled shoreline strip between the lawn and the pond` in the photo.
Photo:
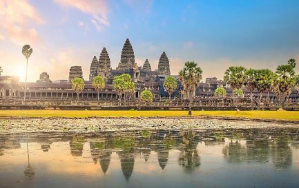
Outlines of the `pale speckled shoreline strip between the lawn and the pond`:
M299 121L193 117L0 117L0 134L28 132L116 132L135 130L298 128Z

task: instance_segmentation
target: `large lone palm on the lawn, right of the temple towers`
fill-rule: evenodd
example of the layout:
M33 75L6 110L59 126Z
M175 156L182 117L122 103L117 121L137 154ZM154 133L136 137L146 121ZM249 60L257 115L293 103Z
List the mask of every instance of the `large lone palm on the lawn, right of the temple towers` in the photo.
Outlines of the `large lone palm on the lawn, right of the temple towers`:
M186 92L189 92L189 116L192 114L192 98L202 79L202 69L194 61L187 61L179 73L180 81Z

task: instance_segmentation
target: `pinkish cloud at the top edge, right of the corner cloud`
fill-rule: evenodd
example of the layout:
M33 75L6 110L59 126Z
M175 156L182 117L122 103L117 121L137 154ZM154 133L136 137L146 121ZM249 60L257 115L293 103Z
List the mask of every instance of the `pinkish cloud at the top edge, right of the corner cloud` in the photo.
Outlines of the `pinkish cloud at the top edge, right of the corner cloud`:
M92 19L90 22L95 25L95 28L101 32L103 26L109 26L107 15L108 15L108 1L106 0L54 0L61 6L75 8L90 14Z

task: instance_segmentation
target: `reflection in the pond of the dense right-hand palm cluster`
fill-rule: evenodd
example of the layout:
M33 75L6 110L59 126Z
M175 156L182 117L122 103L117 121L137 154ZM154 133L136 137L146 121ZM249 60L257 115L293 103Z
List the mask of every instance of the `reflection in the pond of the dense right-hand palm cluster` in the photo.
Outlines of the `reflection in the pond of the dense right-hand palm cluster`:
M272 160L273 165L278 168L286 168L291 165L292 151L289 147L288 132L276 130L276 134L267 136L267 133L252 136L247 140L246 147L240 145L239 140L234 140L222 149L224 158L229 163L259 162L267 163ZM258 138L256 138L258 137ZM240 138L240 137L239 137Z

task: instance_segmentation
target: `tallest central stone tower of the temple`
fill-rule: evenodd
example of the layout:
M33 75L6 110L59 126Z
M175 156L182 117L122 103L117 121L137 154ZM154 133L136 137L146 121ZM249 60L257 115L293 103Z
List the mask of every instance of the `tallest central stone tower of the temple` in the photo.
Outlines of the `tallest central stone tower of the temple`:
M128 39L124 43L124 47L122 48L122 55L120 57L120 62L118 64L117 69L127 69L133 67L135 63L135 55L132 48L132 45Z

